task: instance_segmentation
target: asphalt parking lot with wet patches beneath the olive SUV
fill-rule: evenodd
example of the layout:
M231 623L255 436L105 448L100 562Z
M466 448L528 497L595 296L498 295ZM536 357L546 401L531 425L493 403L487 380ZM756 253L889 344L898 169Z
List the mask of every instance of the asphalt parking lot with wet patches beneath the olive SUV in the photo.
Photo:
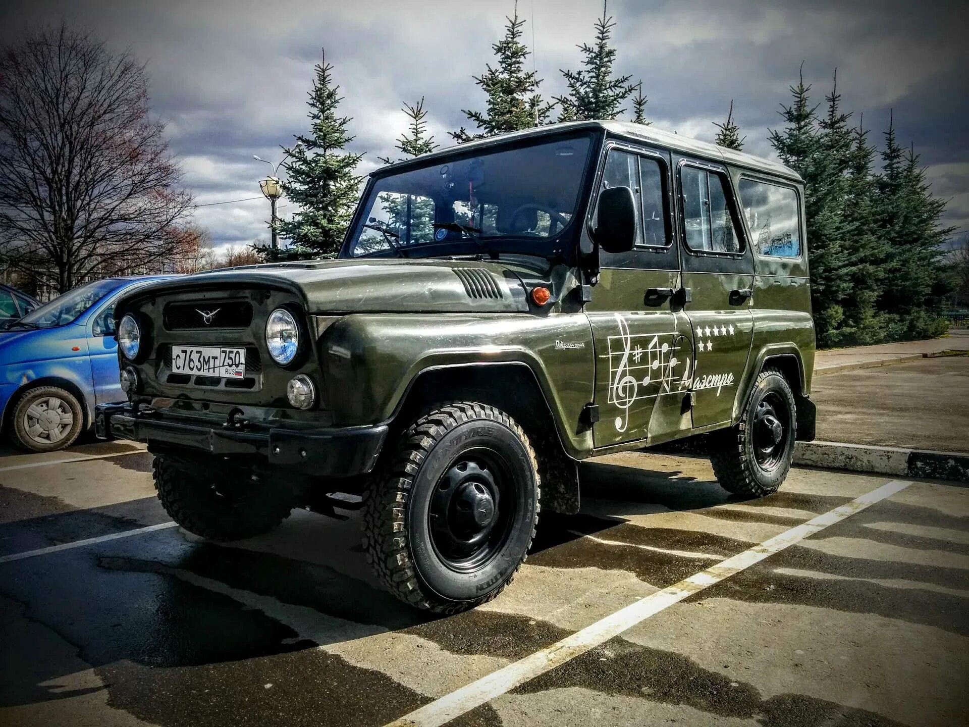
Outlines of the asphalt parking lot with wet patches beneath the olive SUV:
M382 725L425 707L415 723L433 724L446 706L466 725L969 714L958 484L795 469L780 492L740 501L701 458L600 458L582 466L582 513L543 523L513 585L428 618L370 576L356 514L300 511L215 545L167 524L150 467L124 442L0 453L0 724ZM806 522L820 524L790 547L758 548ZM738 553L743 567L725 570ZM642 616L691 577L705 587L549 661L549 646L626 607ZM516 683L504 675L520 659L558 665ZM496 674L484 701L454 696Z

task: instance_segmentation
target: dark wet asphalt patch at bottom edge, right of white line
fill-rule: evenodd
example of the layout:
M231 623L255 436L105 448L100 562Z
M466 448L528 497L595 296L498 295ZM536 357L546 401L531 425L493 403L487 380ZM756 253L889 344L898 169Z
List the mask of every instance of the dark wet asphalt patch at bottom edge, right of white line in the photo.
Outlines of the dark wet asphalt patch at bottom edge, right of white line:
M722 717L756 718L764 727L858 725L893 727L900 723L876 712L845 707L802 694L761 698L751 684L703 669L681 654L645 648L622 638L578 656L517 687L513 694L581 687L650 702L684 705Z

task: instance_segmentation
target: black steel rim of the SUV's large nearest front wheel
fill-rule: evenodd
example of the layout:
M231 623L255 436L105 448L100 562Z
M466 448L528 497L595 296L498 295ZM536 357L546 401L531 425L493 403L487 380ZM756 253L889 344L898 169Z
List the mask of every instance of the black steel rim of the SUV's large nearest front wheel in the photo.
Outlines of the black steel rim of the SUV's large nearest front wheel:
M458 573L484 567L508 541L517 510L507 460L489 447L453 458L431 492L431 545Z

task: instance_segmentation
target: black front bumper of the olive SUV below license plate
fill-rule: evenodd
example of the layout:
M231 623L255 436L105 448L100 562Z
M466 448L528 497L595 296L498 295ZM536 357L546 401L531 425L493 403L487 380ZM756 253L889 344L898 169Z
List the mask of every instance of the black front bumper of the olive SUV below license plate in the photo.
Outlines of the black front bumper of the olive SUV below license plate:
M139 410L130 403L99 404L94 427L99 437L133 439L218 456L265 458L319 477L351 477L373 469L387 438L387 426L288 427L283 424L212 422Z

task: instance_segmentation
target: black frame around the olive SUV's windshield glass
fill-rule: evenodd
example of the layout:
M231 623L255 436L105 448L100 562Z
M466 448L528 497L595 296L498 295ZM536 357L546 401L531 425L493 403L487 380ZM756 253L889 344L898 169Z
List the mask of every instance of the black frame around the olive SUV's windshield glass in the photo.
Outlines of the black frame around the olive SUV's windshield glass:
M561 256L566 262L575 264L578 254L578 240L582 234L582 220L585 218L586 208L589 204L589 190L592 184L592 177L598 169L599 156L602 150L604 132L596 128L563 129L555 133L535 133L511 140L501 140L497 137L485 142L454 146L446 153L434 153L427 159L415 157L413 160L405 160L383 167L369 175L367 183L360 195L357 209L354 212L353 220L347 228L340 245L340 252L337 257L341 260L372 260L385 258L447 258L453 256L477 256L489 253L507 253L514 255L529 255L533 257L551 258L556 255ZM373 205L374 188L377 184L389 176L396 174L407 174L428 167L450 164L455 161L469 159L484 154L492 154L503 151L514 151L515 149L526 146L535 146L543 143L563 142L568 140L587 139L589 142L584 165L582 167L581 178L578 184L578 196L575 211L569 224L555 235L550 237L532 237L516 235L500 236L481 236L475 238L464 238L458 240L445 240L442 242L424 242L419 245L412 245L405 248L402 252L396 252L392 246L387 249L377 250L364 255L352 255L351 245L362 232L364 216ZM538 252L535 250L535 242L540 239L545 250Z

